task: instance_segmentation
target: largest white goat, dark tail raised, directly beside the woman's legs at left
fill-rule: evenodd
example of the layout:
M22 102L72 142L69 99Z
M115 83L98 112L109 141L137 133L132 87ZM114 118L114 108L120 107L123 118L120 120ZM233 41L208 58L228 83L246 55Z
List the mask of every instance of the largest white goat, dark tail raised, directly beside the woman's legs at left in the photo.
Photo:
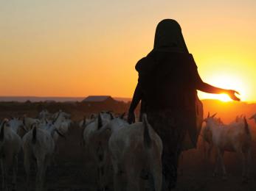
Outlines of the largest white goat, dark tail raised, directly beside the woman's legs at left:
M142 122L114 131L108 146L114 167L115 191L142 190L141 176L149 178L156 191L162 189L162 140L146 115L142 116Z

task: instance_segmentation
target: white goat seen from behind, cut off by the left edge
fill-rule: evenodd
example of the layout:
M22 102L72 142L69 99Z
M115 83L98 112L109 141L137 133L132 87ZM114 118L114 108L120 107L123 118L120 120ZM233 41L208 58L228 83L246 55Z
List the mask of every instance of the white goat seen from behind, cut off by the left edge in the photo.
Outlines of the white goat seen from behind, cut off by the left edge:
M13 170L12 190L16 190L17 171L18 171L18 153L21 150L21 137L10 127L10 122L4 120L1 123L0 131L0 159L2 190L8 190L10 180L9 171Z

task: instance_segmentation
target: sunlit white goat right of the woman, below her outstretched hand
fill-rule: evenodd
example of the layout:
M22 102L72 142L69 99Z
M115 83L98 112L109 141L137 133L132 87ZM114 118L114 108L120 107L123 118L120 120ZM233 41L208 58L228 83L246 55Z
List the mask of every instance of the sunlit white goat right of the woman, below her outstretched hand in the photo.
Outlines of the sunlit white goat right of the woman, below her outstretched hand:
M237 152L243 160L243 181L247 181L249 178L252 136L246 118L243 118L243 123L224 125L216 122L214 119L215 115L204 120L207 123L206 128L212 132L212 143L216 147L218 154L213 175L216 175L218 162L220 162L223 179L226 179L226 169L223 160L224 151Z

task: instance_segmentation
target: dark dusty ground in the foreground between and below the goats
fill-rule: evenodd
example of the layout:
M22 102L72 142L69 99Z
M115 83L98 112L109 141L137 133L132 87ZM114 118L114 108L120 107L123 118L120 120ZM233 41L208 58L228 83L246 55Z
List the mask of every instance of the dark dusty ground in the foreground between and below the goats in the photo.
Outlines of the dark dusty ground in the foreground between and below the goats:
M81 131L76 126L73 126L69 131L67 139L62 139L58 142L60 154L57 157L57 165L48 170L46 190L96 190L95 169L91 164L91 160L80 146L80 133ZM225 163L228 179L222 181L220 177L212 178L212 161L205 162L201 151L202 149L199 146L197 150L184 153L184 160L180 166L183 174L179 176L176 191L256 190L256 166L254 161L252 162L252 180L248 184L243 184L241 179L241 162L237 154L226 154ZM32 174L35 175L35 172L32 172ZM25 175L21 154L18 171L18 190L25 190L24 181Z

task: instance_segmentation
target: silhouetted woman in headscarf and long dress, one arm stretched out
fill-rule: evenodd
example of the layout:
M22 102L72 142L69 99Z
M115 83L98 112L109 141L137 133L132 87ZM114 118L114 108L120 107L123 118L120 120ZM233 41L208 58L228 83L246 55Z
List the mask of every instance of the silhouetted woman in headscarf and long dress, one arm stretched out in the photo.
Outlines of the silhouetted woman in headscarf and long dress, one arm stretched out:
M189 134L193 147L196 147L196 90L226 93L236 101L239 101L235 96L238 92L213 87L201 80L193 56L187 50L181 27L172 19L158 24L153 50L139 60L136 71L139 72L139 80L131 101L128 122L135 121L134 109L142 101L141 113L148 115L151 126L162 138L162 190L171 190L176 187L178 159L186 134Z

